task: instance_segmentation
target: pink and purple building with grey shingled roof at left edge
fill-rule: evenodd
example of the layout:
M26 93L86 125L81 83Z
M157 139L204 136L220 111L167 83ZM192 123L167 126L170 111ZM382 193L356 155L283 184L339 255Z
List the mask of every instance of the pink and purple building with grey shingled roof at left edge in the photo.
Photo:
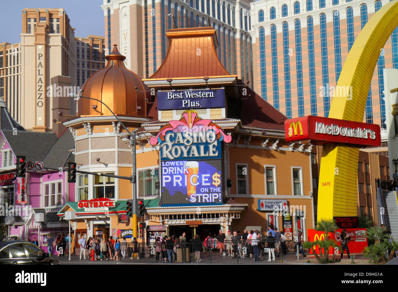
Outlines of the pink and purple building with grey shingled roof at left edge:
M26 169L25 178L17 178L16 157L25 156L27 164L40 161L45 167L64 167L74 161L72 134L66 131L57 137L55 133L26 131L10 116L2 99L0 116L0 217L14 217L10 236L30 241L37 238L39 246L47 251L49 235L56 240L61 233L68 233L68 222L60 221L57 212L74 201L74 184L68 183L67 172L45 168ZM44 214L44 222L35 222L37 213Z

